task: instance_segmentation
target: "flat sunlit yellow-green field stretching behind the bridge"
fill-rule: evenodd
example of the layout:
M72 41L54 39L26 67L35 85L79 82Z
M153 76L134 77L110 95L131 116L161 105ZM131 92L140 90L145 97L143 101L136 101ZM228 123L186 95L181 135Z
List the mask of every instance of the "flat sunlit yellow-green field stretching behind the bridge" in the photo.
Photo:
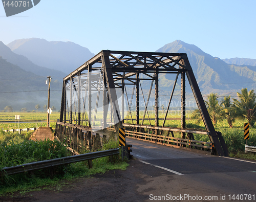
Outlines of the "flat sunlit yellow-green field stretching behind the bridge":
M186 111L186 125L190 126L190 124L196 124L196 119L190 119L192 111ZM0 129L7 130L7 129L15 129L15 123L1 123L5 121L15 121L15 115L20 115L20 123L19 128L33 128L33 127L40 127L40 126L47 126L47 123L23 123L22 121L46 121L47 120L47 113L27 113L27 112L13 112L13 113L0 113ZM50 126L55 127L55 123L57 119L59 119L60 113L53 112L50 115ZM132 112L133 123L135 123L136 116L135 111ZM150 116L151 122L148 120L148 116L146 114L145 120L143 122L144 125L155 125L155 114L154 111L149 111L148 115ZM127 116L127 120L125 118L125 123L132 123L130 114ZM163 124L163 118L165 117L165 113L162 113L162 110L159 111L159 125ZM68 118L68 117L67 117ZM92 113L92 118L94 118L94 114ZM140 119L143 118L143 112L140 111ZM88 117L87 117L88 119ZM102 113L98 112L96 119L102 119ZM130 120L129 120L130 119ZM162 120L161 120L162 119ZM168 113L167 119L177 119L177 120L166 120L165 126L169 127L181 127L181 111L175 110ZM76 120L76 116L73 115L73 120ZM110 115L108 114L108 121L110 121ZM236 122L233 124L233 128L241 128L243 130L245 120L237 119ZM142 123L142 120L139 120L139 124ZM100 121L96 121L95 125L99 125ZM85 125L85 124L84 124ZM203 122L197 124L200 127L204 127ZM16 124L18 127L18 124ZM218 128L229 128L228 123L226 120L218 121L216 129Z

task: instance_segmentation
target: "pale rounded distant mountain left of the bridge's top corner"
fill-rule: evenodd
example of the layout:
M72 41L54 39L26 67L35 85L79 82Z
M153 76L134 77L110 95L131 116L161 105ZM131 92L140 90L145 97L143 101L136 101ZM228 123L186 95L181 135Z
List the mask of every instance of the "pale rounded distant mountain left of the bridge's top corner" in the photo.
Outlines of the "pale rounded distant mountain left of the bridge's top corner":
M87 48L70 41L30 38L14 40L7 46L37 65L65 72L65 76L94 56Z

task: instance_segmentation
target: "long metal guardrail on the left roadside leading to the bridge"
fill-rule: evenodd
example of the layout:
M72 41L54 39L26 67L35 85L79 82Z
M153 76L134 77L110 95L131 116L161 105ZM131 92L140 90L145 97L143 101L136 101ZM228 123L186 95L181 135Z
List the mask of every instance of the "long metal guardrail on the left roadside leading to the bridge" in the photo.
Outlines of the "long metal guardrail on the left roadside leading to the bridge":
M39 170L42 168L49 168L53 166L71 164L71 163L76 163L80 161L93 160L93 159L101 158L104 156L110 156L110 155L116 155L116 154L119 154L119 148L109 149L105 151L84 153L84 154L79 154L74 156L67 156L67 157L58 158L58 159L32 162L28 164L13 166L13 167L5 167L0 170L0 174L1 176L13 175L13 174L23 173L27 171Z

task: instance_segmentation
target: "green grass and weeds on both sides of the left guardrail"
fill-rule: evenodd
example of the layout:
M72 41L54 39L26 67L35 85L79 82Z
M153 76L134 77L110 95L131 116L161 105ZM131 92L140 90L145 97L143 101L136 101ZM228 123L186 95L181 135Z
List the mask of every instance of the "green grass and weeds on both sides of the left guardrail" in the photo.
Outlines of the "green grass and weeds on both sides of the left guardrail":
M18 133L0 130L0 168L70 155L66 147L59 142L50 140L28 141L28 138L29 135L26 137ZM117 141L109 140L103 144L102 150L117 148L118 144ZM121 161L119 155L112 159L109 156L95 159L92 163L93 168L91 169L89 169L88 162L84 161L60 166L55 170L34 171L33 174L21 173L8 177L0 176L0 196L11 196L14 192L24 194L41 189L59 191L61 186L67 184L71 179L105 173L113 169L125 170L129 165Z

